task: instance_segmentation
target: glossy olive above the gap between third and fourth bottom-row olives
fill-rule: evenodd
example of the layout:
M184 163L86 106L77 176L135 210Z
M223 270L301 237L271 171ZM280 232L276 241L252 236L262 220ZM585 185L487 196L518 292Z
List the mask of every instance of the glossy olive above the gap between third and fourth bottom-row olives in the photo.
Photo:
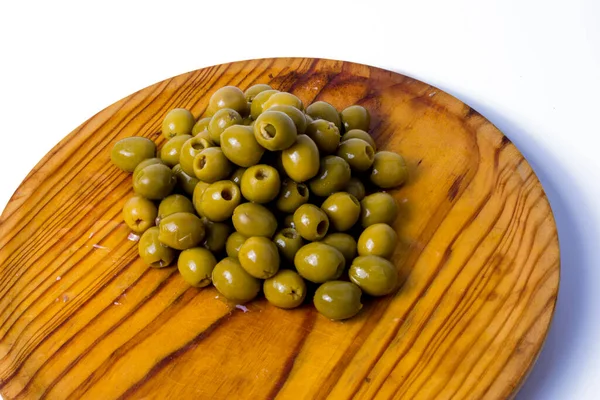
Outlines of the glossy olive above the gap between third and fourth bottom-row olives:
M248 238L240 247L238 260L242 268L255 278L268 279L279 271L277 246L266 237Z

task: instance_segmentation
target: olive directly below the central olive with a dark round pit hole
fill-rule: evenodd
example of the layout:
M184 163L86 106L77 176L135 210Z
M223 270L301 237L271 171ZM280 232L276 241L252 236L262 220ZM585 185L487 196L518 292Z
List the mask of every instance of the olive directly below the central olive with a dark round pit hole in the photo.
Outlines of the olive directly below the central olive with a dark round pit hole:
M235 230L246 237L272 237L277 229L277 220L271 211L256 203L242 203L233 211Z

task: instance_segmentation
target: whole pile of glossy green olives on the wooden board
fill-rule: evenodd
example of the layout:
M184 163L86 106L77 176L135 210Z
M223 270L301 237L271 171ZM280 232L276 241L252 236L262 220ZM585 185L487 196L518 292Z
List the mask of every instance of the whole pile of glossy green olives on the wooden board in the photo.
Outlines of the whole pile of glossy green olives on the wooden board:
M258 84L220 88L206 114L171 110L158 155L143 137L112 150L112 162L133 173L123 219L141 235L147 264L176 262L190 285L212 283L238 304L262 288L273 305L294 308L315 287L316 309L334 320L356 315L363 292L396 289L398 207L381 189L402 185L407 167L377 151L367 109L305 109Z

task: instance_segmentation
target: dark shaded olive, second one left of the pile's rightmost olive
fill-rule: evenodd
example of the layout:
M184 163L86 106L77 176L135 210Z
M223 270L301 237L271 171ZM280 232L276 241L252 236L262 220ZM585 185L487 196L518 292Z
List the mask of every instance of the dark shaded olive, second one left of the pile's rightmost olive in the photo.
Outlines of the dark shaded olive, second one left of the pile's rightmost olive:
M326 197L343 190L351 176L346 160L338 156L326 156L321 159L319 173L311 179L309 188L315 195Z

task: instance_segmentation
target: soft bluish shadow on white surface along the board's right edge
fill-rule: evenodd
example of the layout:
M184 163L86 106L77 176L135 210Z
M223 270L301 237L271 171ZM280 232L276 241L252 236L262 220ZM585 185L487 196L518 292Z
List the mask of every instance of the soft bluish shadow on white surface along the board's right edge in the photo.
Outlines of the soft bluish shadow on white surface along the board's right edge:
M586 269L582 221L574 207L579 204L580 190L574 179L561 169L561 160L553 159L543 145L517 124L477 101L457 95L500 129L525 156L544 187L558 228L560 242L560 286L554 319L540 356L524 382L517 399L546 399L553 393L557 380L567 379L578 368L579 339L585 333L584 310ZM567 370L570 370L567 373Z

